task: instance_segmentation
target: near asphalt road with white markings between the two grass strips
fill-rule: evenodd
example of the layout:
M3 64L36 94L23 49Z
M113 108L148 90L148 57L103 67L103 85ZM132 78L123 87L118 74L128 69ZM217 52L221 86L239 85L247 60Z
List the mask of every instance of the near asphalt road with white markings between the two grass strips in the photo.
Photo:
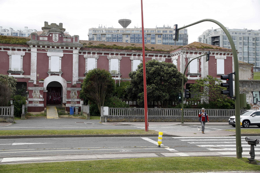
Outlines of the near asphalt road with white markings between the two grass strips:
M251 138L259 139L260 136ZM1 139L0 164L173 156L236 156L235 137L37 138ZM250 145L242 137L243 157ZM259 145L255 147L260 159Z

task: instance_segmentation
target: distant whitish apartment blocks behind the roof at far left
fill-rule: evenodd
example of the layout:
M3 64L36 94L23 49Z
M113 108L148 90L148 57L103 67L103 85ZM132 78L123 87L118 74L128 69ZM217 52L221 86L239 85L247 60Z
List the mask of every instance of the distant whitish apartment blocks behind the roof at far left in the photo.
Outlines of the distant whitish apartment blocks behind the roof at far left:
M36 29L28 29L28 27L24 27L24 30L17 30L15 31L12 28L9 29L3 29L3 27L0 27L0 35L6 35L6 36L18 36L18 37L29 37L29 35L33 32L36 32Z

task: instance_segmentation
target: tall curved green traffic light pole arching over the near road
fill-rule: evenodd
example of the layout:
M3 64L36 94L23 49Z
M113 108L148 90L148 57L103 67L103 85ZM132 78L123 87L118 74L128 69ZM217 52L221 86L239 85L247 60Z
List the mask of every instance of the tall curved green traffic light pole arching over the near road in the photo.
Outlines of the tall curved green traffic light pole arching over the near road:
M237 59L237 51L236 51L236 47L235 44L233 42L233 39L229 33L229 31L224 27L224 25L222 25L220 22L218 22L217 20L213 20L213 19L203 19L203 20L199 20L198 22L192 23L190 25L186 25L184 27L179 28L180 29L184 29L187 27L190 27L192 25L196 25L198 23L201 22L213 22L216 23L218 26L221 27L221 29L223 29L223 31L225 32L226 36L229 39L231 48L232 48L232 52L233 52L233 57L234 57L234 70L235 70L235 119L236 119L236 151L237 151L237 158L242 158L242 146L241 146L241 129L240 129L240 93L239 93L239 73L238 73L238 59Z

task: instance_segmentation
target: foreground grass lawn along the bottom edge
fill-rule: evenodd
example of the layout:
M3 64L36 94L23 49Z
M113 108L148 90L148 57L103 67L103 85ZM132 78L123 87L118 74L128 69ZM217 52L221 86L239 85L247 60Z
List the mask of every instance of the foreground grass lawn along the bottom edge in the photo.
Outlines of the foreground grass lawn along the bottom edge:
M111 160L88 160L50 163L1 165L0 172L91 172L91 173L173 173L216 171L259 171L260 165L248 163L246 158L234 157L156 157Z

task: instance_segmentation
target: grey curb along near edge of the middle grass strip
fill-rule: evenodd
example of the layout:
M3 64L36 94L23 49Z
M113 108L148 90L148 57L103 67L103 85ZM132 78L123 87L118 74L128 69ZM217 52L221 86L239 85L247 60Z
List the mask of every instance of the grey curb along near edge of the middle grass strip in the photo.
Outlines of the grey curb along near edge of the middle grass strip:
M165 137L179 137L165 134ZM111 138L111 137L158 137L158 135L31 135L31 136L0 136L0 139L28 138Z

